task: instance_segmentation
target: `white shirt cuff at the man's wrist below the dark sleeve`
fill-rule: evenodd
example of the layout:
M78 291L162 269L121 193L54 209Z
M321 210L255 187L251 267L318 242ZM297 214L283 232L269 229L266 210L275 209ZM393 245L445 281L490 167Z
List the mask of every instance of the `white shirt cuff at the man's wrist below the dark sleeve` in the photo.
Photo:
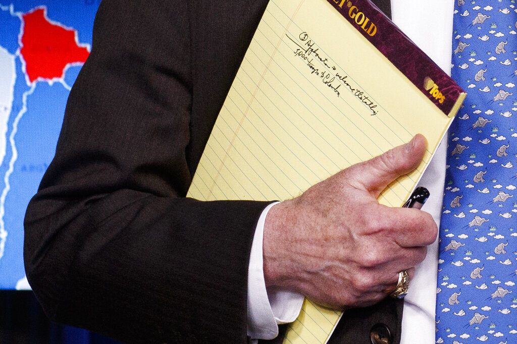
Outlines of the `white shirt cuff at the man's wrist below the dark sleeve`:
M253 339L273 339L278 336L278 324L293 322L299 315L303 295L278 287L266 289L263 269L262 242L264 224L272 203L258 219L251 245L248 267L248 336Z

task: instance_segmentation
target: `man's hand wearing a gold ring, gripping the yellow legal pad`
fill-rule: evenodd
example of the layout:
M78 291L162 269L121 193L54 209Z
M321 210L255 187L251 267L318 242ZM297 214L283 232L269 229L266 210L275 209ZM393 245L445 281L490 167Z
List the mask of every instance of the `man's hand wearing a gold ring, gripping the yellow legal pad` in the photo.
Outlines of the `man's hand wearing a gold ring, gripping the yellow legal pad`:
M379 205L377 197L419 165L426 146L417 135L273 206L264 227L266 285L343 308L382 300L402 270L412 276L436 224L428 213Z

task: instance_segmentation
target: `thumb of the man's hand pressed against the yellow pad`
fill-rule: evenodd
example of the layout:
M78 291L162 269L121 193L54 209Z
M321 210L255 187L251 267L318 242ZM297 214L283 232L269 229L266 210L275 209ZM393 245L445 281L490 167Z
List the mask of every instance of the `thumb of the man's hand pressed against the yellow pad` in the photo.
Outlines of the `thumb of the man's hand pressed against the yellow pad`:
M351 167L352 179L377 197L393 180L418 167L427 150L421 134L368 161Z

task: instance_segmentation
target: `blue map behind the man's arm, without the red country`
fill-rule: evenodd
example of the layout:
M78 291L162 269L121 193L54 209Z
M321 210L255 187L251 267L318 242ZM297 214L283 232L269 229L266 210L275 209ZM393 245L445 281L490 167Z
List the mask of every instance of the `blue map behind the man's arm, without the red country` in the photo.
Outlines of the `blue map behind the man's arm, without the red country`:
M0 165L3 197L3 200L0 198L0 227L7 232L4 252L0 255L0 289L29 288L23 269L23 217L28 201L36 193L54 156L69 89L82 66L68 65L60 80L39 79L30 83L20 54L19 35L23 27L19 17L44 8L51 23L77 30L79 45L86 44L89 50L99 3L99 0L14 0L8 3L0 0L0 49L4 56L6 51L14 56L16 68L11 109L0 112L0 123L4 127L7 124L4 132L0 132L5 148ZM0 77L4 76L0 81L5 80L7 72L0 64ZM0 107L2 105L5 104L0 103Z

